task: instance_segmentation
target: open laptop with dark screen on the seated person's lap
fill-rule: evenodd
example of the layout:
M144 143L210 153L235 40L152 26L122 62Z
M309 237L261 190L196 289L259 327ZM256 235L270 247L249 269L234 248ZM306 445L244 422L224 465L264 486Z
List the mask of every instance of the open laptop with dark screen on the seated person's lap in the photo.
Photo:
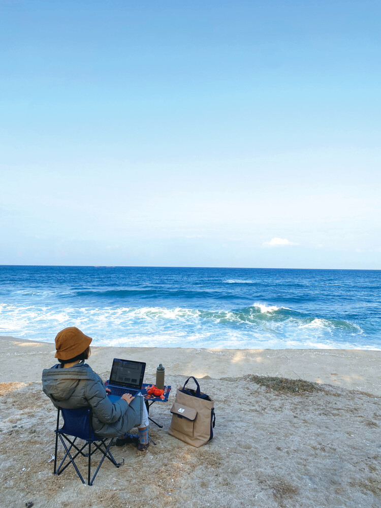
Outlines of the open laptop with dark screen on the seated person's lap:
M109 384L107 385L107 388L111 390L111 393L108 395L111 402L119 400L123 393L130 393L135 397L140 392L143 384L145 365L144 362L114 358Z

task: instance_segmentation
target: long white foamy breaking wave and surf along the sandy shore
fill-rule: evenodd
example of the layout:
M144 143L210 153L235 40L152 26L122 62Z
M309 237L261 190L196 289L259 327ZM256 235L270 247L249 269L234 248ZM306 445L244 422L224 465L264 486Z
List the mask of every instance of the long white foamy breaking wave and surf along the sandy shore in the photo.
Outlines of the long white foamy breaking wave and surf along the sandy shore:
M2 304L0 317L0 333L53 341L57 331L74 325L95 345L361 348L364 333L349 321L261 303L236 310Z

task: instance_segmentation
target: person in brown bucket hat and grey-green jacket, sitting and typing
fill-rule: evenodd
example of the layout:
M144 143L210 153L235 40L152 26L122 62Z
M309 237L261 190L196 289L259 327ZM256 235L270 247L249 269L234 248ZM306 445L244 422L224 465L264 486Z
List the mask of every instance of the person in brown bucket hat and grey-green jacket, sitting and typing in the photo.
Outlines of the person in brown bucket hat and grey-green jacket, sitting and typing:
M54 406L66 409L91 407L92 428L100 437L118 437L117 446L131 442L129 431L138 427L138 450L148 448L148 413L141 393L125 393L116 401L100 376L85 360L90 356L91 337L76 327L61 330L55 338L58 364L42 371L42 389Z

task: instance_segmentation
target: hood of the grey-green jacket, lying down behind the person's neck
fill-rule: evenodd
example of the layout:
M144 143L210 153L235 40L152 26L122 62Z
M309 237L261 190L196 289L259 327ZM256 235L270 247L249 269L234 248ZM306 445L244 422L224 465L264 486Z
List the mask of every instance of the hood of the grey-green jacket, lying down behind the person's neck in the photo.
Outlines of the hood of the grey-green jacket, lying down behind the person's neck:
M69 399L78 386L80 379L98 380L99 376L89 365L79 363L67 369L61 364L42 371L42 389L54 400Z

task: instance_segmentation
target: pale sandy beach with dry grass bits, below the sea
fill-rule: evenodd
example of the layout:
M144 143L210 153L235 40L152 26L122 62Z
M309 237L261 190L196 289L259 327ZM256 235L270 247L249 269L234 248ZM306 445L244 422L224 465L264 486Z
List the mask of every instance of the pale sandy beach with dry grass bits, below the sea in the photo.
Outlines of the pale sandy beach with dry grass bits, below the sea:
M73 468L54 477L49 462L56 410L41 371L54 351L0 338L1 506L381 506L381 352L93 347L88 363L102 378L114 357L145 361L147 383L163 363L172 393L151 409L163 425L150 426L156 446L113 448L129 465L105 463L87 487ZM200 449L167 432L188 375L215 400L215 437ZM278 391L266 376L316 385Z

